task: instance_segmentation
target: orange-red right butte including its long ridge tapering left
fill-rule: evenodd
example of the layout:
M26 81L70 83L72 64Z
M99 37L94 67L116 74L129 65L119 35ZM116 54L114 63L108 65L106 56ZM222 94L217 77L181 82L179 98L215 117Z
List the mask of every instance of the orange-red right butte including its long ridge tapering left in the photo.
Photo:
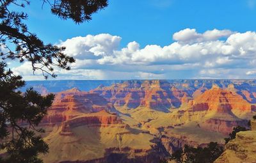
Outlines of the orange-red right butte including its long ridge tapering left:
M152 120L146 125L155 128L175 127L186 123L198 123L200 128L225 135L237 125L246 126L252 117L254 106L241 95L228 89L212 86L180 109Z

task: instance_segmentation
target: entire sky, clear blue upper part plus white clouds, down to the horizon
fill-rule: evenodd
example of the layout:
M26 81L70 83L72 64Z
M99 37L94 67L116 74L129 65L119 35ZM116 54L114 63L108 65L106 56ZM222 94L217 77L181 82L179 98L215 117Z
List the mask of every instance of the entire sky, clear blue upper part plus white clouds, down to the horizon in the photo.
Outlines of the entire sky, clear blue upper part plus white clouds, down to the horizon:
M28 28L76 58L56 79L255 79L256 0L109 0L90 22L26 8ZM25 80L28 62L9 63ZM49 78L49 80L53 80Z

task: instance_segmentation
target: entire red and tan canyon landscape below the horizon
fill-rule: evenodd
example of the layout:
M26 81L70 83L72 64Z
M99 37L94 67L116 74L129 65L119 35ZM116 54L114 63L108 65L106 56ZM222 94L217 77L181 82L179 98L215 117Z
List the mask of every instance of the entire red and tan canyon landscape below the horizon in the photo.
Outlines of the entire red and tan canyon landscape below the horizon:
M159 162L185 144L224 144L256 114L253 80L102 83L58 92L33 85L55 94L40 123L50 149L44 162Z

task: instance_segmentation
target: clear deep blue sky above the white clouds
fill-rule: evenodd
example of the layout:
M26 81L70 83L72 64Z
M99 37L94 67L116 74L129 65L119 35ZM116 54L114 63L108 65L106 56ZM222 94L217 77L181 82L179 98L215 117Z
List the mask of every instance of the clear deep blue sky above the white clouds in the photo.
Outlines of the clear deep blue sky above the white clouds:
M42 1L32 1L27 12L29 29L47 42L109 33L122 37L121 46L132 41L163 46L173 42L173 33L185 28L254 31L255 5L254 0L110 0L105 10L80 25L58 19L48 4L42 9Z

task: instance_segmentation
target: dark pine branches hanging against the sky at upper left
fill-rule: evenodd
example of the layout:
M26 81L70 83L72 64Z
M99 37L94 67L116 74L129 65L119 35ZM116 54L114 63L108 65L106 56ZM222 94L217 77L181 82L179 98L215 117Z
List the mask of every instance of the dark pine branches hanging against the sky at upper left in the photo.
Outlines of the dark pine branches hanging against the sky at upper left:
M44 0L51 6L53 14L61 19L72 19L81 23L92 19L92 13L108 6L107 0ZM56 77L54 66L70 70L68 63L74 63L74 58L63 54L65 47L51 43L45 44L35 34L28 31L22 20L28 15L24 12L11 11L10 6L24 8L29 0L0 0L0 56L2 59L19 59L31 62L33 71L41 70L45 78L48 75ZM13 48L14 47L14 48Z

